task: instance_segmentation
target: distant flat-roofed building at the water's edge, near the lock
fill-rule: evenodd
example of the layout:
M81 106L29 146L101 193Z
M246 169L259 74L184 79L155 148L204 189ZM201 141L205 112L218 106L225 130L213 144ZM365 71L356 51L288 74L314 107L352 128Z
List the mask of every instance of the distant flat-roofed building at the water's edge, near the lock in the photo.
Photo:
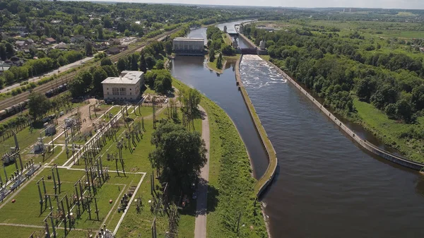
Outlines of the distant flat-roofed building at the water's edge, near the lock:
M176 37L173 40L175 54L201 55L204 54L204 38Z

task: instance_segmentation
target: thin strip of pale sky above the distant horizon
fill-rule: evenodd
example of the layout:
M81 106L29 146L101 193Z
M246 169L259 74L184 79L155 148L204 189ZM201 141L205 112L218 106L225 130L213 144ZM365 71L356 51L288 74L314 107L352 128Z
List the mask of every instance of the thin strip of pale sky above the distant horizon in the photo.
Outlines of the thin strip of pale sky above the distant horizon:
M346 8L402 8L424 9L424 0L94 0L146 2L160 4L209 4L234 6L283 6L302 8L346 7Z

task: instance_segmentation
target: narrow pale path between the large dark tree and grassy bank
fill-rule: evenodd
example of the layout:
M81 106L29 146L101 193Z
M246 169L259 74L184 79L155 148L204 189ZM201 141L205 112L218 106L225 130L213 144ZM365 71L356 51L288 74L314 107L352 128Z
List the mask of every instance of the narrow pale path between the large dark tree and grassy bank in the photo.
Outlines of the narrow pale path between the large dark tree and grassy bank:
M208 181L209 181L209 149L210 149L210 137L209 137L209 119L206 115L205 109L200 107L202 113L201 121L201 138L204 139L206 144L206 165L201 169L201 179L197 186L197 207L196 207L196 224L194 227L194 238L206 238L206 209L208 201Z

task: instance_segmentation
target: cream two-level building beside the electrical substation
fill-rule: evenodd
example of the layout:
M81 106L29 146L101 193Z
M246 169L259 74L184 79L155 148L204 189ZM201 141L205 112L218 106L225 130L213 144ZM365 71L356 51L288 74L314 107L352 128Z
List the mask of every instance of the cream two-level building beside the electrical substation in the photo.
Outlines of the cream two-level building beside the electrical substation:
M102 81L104 100L134 101L141 97L144 76L141 71L122 71L119 77Z

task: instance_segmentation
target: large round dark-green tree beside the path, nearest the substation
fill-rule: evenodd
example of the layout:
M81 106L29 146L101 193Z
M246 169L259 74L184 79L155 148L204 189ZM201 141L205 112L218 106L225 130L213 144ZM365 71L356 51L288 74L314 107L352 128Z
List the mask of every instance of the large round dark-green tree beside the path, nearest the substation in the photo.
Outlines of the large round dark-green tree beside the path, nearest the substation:
M152 167L161 171L160 181L168 182L175 191L189 191L190 184L207 161L207 150L200 133L165 122L152 133L151 143L156 148L148 157Z

